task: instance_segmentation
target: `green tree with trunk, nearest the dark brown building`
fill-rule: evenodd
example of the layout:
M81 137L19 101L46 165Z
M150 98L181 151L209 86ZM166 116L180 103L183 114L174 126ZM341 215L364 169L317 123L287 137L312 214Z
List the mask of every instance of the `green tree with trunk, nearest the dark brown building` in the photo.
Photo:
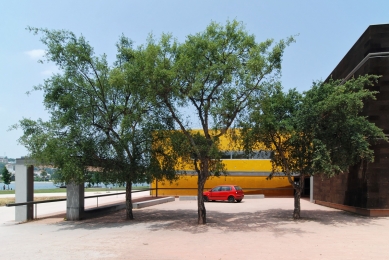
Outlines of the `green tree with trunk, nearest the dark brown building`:
M303 94L295 89L285 93L277 85L251 104L242 123L243 145L249 152L255 145L274 151L269 177L284 175L293 186L295 219L300 218L305 177L332 177L360 161L372 162L371 145L386 141L383 131L361 113L364 102L375 99L368 86L377 78L318 82Z

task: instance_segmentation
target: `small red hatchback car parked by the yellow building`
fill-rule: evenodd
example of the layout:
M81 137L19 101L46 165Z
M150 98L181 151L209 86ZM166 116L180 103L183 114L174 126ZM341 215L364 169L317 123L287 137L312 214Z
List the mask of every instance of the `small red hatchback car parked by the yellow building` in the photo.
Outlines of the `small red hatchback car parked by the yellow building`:
M228 202L241 202L244 198L243 190L237 185L220 185L203 192L204 201L228 200Z

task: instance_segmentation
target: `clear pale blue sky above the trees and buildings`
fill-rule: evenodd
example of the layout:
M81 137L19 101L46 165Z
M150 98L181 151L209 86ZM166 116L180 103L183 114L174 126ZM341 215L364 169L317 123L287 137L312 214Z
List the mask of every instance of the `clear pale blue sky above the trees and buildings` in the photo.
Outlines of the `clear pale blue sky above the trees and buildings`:
M47 119L43 93L26 95L56 68L39 64L44 46L27 26L66 29L84 35L95 53L113 61L121 34L136 45L150 33L172 33L179 41L211 22L242 21L257 41L299 34L286 49L282 82L304 91L324 80L372 24L389 23L388 0L272 1L0 1L0 156L19 158L21 131L8 131L22 118Z

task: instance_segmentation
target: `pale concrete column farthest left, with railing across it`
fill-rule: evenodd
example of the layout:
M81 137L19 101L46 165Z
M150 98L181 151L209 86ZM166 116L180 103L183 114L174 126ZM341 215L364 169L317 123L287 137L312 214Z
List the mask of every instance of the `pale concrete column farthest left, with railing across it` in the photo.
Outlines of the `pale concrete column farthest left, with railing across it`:
M34 201L34 166L25 159L16 159L15 203ZM15 207L15 221L23 222L34 218L34 205Z

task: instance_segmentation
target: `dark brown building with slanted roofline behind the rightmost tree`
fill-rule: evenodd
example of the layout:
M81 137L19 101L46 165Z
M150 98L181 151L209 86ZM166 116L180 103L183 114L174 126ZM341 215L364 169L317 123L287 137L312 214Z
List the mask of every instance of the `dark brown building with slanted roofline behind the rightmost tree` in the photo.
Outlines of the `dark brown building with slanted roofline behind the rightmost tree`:
M370 87L379 94L376 100L365 103L363 114L388 135L389 24L369 26L328 79L348 80L366 74L381 78ZM350 167L348 173L330 179L315 176L313 200L367 216L389 216L389 143L380 142L372 148L373 163L360 162Z

